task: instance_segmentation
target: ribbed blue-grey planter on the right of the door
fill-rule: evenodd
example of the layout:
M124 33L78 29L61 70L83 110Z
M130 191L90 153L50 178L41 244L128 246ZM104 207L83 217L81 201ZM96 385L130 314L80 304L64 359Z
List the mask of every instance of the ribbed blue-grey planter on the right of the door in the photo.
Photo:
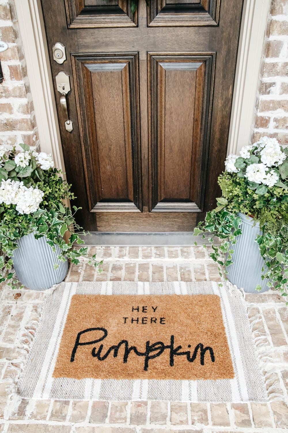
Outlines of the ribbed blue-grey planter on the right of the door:
M265 292L269 290L268 280L261 279L261 269L265 262L255 242L256 236L262 234L260 225L256 223L254 226L253 218L244 213L238 213L238 216L242 220L242 235L237 236L236 245L231 246L231 249L234 249L234 263L227 268L228 280L237 287L244 288L246 293L259 293L255 290L257 284L262 287L261 292Z

